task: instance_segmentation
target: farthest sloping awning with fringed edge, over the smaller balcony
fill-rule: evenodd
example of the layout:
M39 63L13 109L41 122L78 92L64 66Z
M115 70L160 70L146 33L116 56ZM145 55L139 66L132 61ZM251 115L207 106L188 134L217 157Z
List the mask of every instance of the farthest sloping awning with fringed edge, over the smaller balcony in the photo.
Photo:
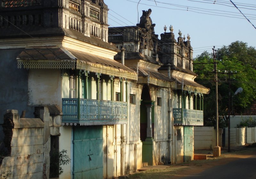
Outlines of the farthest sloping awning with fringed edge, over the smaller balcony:
M179 77L175 78L175 83L172 83L172 88L173 89L181 89L182 83L183 83L184 91L191 91L191 92L207 94L207 93L209 93L209 90L210 90L210 89L204 87L203 85L198 84L197 82L182 79Z

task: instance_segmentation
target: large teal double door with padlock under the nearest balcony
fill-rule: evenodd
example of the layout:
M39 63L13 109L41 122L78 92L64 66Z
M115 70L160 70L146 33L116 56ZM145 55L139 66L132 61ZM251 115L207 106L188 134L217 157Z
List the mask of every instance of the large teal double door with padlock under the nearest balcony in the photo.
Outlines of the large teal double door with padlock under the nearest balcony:
M76 126L73 135L73 178L103 178L102 126Z

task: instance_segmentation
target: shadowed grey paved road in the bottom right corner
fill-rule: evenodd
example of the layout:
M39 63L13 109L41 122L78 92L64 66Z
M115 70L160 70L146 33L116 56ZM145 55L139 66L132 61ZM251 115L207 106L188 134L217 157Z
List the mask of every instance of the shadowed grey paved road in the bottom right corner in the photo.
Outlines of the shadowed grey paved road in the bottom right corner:
M209 168L182 179L256 179L256 155Z

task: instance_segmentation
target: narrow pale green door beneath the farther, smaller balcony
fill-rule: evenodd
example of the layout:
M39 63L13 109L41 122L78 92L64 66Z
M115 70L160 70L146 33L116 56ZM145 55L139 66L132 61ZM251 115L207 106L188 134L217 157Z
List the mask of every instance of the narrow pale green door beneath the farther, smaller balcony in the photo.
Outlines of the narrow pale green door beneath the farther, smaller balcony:
M184 161L193 157L193 126L184 126Z

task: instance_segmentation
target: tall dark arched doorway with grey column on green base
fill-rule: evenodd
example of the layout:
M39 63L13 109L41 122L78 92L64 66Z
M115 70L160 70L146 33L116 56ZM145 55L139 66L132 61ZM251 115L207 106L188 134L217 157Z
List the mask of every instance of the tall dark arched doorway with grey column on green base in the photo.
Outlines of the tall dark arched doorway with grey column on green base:
M140 140L142 141L142 162L153 165L154 101L151 100L148 85L144 85L140 103Z

